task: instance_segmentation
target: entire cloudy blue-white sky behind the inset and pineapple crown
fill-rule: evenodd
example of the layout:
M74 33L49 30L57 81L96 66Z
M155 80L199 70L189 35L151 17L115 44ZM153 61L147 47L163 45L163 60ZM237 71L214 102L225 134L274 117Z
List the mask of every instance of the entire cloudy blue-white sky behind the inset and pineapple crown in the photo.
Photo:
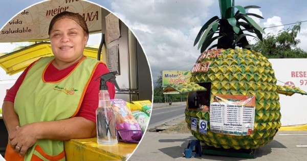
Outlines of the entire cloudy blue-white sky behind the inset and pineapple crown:
M15 14L40 0L2 0L0 27ZM160 71L190 70L200 52L193 42L200 28L211 17L220 16L217 0L91 0L112 11L134 32L146 53L153 81ZM261 27L273 27L307 20L305 0L237 0L235 5L257 5L249 12L262 15L255 19ZM278 33L291 25L265 29ZM307 22L301 25L299 47L307 51Z

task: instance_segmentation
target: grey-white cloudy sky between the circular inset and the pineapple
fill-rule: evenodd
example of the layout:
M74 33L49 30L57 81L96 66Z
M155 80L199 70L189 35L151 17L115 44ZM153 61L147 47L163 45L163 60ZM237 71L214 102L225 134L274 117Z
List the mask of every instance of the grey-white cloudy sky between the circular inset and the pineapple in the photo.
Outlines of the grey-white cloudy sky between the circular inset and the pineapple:
M210 1L114 1L115 14L135 33L154 81L163 70L190 70L200 51L194 39L209 15Z

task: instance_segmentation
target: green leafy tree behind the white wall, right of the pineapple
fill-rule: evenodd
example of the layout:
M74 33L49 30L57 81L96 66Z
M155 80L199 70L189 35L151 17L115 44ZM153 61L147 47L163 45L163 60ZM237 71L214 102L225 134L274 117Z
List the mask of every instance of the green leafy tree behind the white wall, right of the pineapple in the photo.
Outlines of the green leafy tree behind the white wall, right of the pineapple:
M297 47L300 40L297 34L300 32L299 22L297 25L280 30L277 35L269 33L262 41L257 39L252 50L262 53L267 58L307 58L307 53Z

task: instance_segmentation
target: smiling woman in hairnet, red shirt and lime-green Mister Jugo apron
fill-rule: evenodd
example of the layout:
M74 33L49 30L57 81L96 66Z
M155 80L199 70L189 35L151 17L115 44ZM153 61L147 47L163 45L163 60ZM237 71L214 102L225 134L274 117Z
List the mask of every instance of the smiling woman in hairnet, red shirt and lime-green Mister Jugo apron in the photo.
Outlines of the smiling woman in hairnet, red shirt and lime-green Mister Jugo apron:
M62 12L51 20L49 29L54 56L32 63L4 101L9 134L7 160L46 159L44 154L65 159L62 141L93 137L96 133L95 95L99 83L95 79L109 71L100 61L83 56L89 32L81 15ZM107 85L114 98L114 85ZM78 90L67 95L53 90L54 86ZM36 96L44 101L33 100ZM71 126L72 123L78 124Z

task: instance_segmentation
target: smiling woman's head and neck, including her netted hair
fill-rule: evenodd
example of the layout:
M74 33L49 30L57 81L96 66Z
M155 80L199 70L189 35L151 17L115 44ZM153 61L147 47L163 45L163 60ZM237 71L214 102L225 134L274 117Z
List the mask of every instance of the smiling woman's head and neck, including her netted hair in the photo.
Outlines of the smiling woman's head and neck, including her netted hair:
M83 21L75 18L76 16ZM80 25L79 25L80 24ZM62 70L83 57L83 51L89 39L89 29L79 14L62 12L50 22L49 35L51 49L55 55L52 62L58 70Z

